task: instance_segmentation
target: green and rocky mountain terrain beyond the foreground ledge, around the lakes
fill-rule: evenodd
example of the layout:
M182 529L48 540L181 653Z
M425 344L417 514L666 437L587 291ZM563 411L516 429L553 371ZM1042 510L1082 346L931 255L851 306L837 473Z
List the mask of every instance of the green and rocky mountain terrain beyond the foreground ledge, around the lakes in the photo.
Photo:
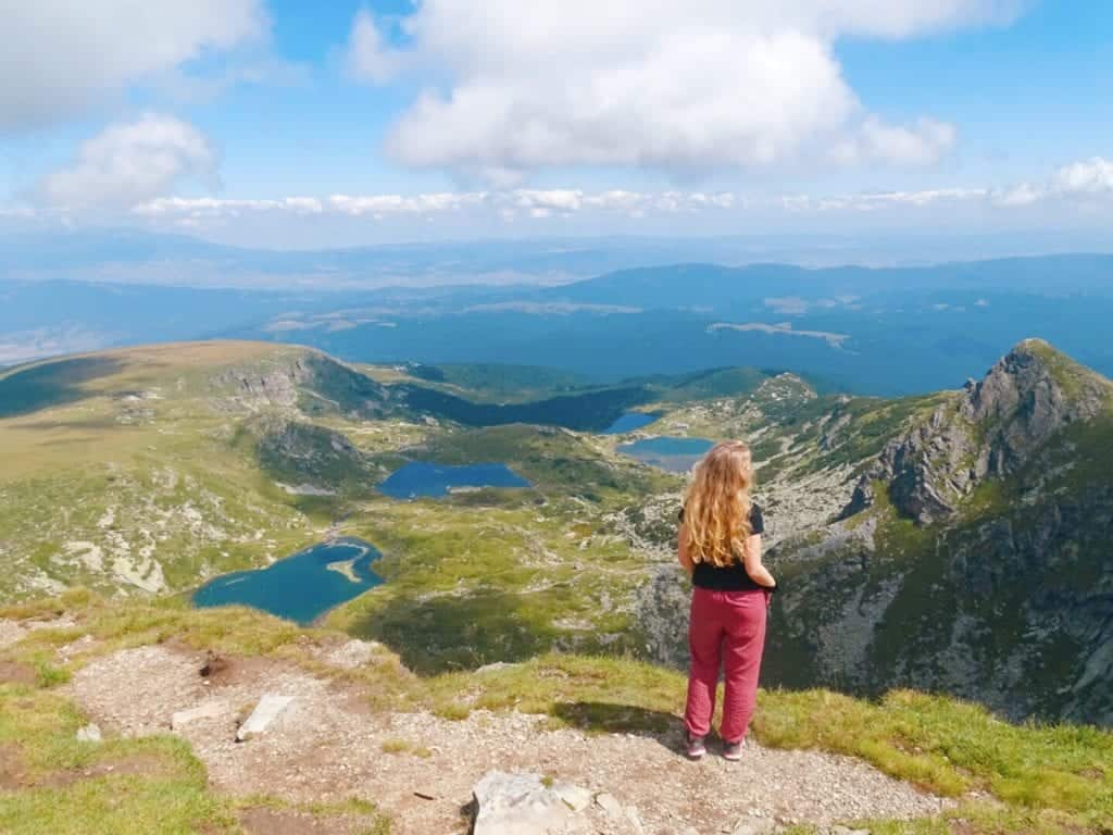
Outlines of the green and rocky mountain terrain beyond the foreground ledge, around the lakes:
M1111 384L1046 343L1020 344L964 390L900 400L748 369L615 386L539 374L535 400L491 380L262 343L12 370L0 595L188 592L347 536L382 554L385 583L328 623L423 674L553 649L682 666L683 479L620 446L743 438L786 584L768 681L1113 721ZM599 426L628 409L631 391L649 428L580 431L583 414ZM575 429L535 425L569 415ZM415 501L376 490L407 462L496 462L529 487Z

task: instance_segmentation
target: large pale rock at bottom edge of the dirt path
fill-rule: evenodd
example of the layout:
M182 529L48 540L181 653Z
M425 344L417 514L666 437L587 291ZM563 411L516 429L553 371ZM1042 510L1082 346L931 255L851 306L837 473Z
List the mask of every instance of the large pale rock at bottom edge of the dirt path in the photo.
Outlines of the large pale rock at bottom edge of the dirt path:
M567 793L567 792L565 792ZM579 794L571 793L579 798ZM473 835L559 835L574 812L555 787L536 774L487 772L474 789Z

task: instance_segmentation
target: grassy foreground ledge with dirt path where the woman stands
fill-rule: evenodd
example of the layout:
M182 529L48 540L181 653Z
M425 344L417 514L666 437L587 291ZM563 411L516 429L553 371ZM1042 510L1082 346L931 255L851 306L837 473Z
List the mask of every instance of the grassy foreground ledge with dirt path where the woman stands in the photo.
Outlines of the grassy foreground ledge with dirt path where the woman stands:
M682 694L669 670L571 655L420 677L343 632L70 591L0 609L0 829L1099 835L1113 819L1107 733L908 691L765 690L741 764L688 763Z

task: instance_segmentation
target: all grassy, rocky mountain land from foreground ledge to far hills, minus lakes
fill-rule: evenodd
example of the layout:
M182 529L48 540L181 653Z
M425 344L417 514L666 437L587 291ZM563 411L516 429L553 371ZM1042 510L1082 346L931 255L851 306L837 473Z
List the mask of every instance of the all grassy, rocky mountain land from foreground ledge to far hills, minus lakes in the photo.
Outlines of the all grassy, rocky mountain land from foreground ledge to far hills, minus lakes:
M1013 727L915 692L1111 723L1104 377L1028 341L963 390L900 400L752 369L617 386L535 375L533 400L491 380L232 342L0 376L0 596L28 601L0 611L0 828L33 832L28 815L49 807L56 832L127 832L120 815L135 832L200 819L209 832L463 831L459 806L490 765L620 798L641 829L599 802L582 813L613 833L719 832L726 816L759 827L740 833L869 818L877 833L1096 835L1113 819L1107 734ZM577 397L612 392L621 411L630 389L653 410L631 433L498 411L481 412L490 425L461 420L504 406L560 421ZM682 679L669 667L683 665L672 542L684 482L621 451L653 434L749 440L785 587L765 682L792 689L762 695L755 790L727 792L729 772L686 772L681 794L705 800L682 806ZM407 462L499 462L529 487L412 500L375 489ZM188 608L185 592L209 577L341 536L377 549L385 582L314 628ZM207 650L230 659L216 689L195 678ZM817 685L880 700L797 689ZM229 747L274 691L301 699L290 717L303 719ZM165 736L194 709L196 725ZM319 720L303 725L309 715ZM73 741L87 717L105 747ZM312 758L337 736L356 740L351 756ZM274 767L247 768L260 750ZM149 775L136 776L137 758ZM106 805L119 785L134 790ZM785 802L785 785L810 788ZM157 799L167 793L173 812Z

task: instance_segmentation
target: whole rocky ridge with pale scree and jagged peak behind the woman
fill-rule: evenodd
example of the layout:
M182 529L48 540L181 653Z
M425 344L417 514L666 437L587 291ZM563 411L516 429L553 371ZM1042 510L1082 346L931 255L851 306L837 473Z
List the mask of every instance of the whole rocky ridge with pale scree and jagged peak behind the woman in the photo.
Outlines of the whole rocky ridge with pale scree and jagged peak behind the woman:
M782 584L765 680L942 690L1013 718L1113 724L1100 684L1113 676L1111 393L1028 340L930 397L736 403ZM620 528L658 564L639 592L647 652L682 667L678 502L631 509Z

